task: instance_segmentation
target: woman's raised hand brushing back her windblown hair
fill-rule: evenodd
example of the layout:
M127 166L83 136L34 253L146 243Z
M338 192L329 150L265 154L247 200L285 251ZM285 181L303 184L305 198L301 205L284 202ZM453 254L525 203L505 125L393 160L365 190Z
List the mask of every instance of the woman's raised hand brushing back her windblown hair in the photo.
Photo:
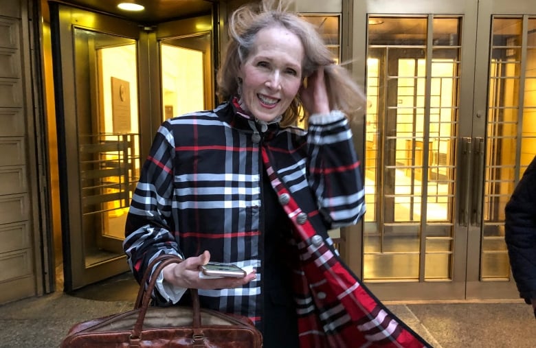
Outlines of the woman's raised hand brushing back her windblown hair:
M300 89L300 98L305 110L310 115L328 114L331 111L326 80L324 79L324 67L319 67L311 76L306 78Z

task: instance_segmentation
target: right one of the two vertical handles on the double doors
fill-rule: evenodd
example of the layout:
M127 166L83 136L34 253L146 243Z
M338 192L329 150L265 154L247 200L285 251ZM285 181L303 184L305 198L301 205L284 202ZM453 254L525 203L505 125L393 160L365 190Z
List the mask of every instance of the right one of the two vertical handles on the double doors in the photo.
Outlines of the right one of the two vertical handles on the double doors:
M484 138L475 138L473 155L473 199L471 201L471 224L480 227L482 223L482 195L484 194Z

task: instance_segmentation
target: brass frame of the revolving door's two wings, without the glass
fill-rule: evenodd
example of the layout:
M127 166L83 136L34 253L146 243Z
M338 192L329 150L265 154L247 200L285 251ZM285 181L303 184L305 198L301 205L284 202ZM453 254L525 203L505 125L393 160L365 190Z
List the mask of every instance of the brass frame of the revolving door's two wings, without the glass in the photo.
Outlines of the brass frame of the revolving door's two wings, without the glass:
M56 1L49 2L53 40L54 89L58 129L58 165L60 168L60 209L63 239L65 291L80 288L128 270L126 256L120 255L94 266L85 266L84 235L82 233L82 202L80 195L80 154L78 148L76 98L65 91L76 91L74 28L131 38L137 43L137 101L139 115L139 167L150 150L155 132L161 124L161 88L158 40L166 37L215 33L212 16L201 16L140 26L138 23L74 8ZM203 28L198 29L199 25ZM205 67L208 89L205 100L214 106L214 52ZM205 74L206 75L206 74ZM88 86L93 91L95 86ZM91 92L94 94L94 91Z

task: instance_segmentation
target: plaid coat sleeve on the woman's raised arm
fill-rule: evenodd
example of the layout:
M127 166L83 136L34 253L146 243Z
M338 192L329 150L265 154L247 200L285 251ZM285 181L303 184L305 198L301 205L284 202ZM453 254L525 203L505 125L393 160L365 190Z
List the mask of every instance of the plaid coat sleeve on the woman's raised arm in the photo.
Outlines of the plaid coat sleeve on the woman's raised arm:
M365 190L348 119L341 111L312 115L307 133L309 185L324 219L335 229L365 213Z

